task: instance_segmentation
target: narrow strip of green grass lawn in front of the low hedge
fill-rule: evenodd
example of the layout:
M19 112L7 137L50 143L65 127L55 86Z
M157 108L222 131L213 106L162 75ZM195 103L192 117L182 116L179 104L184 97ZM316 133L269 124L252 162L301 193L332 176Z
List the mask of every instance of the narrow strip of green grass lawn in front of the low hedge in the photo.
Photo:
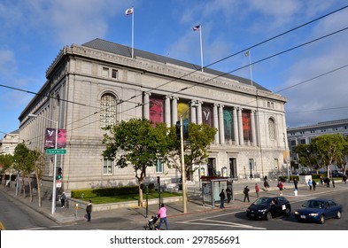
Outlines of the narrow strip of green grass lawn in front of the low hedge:
M171 192L161 192L161 198L173 198L173 197L181 197L182 193L171 193ZM88 202L92 200L93 204L107 204L107 203L116 203L116 202L127 202L127 201L137 201L139 198L138 194L129 194L129 195L120 195L120 196L112 196L112 197L97 197L97 198L82 198L80 200ZM158 192L151 192L148 195L149 199L159 198ZM143 194L143 201L146 200L146 194Z

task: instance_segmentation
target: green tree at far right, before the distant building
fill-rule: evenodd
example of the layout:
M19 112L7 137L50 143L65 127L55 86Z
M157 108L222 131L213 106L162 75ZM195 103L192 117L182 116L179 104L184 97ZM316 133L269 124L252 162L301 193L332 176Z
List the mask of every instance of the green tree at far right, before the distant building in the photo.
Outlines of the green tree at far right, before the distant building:
M329 166L340 160L344 150L344 137L340 134L317 136L312 139L312 144L317 151L318 163L327 167L329 177Z

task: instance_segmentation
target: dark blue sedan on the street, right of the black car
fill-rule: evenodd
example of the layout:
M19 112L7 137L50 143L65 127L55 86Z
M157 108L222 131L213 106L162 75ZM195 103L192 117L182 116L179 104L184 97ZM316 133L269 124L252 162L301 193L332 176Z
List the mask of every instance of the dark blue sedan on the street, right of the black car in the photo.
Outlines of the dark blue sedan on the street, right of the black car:
M315 198L306 201L294 215L298 221L314 221L323 224L326 219L340 219L342 206L333 200Z

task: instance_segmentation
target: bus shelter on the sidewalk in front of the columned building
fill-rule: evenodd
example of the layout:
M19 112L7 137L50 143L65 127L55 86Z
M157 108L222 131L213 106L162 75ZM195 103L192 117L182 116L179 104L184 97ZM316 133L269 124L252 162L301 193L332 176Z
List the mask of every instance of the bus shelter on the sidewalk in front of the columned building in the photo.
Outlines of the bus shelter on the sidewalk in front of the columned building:
M234 200L233 180L228 177L202 176L202 195L203 205L212 205L215 208L216 203L220 203L220 192L223 189L227 197L226 189L231 190L231 200Z

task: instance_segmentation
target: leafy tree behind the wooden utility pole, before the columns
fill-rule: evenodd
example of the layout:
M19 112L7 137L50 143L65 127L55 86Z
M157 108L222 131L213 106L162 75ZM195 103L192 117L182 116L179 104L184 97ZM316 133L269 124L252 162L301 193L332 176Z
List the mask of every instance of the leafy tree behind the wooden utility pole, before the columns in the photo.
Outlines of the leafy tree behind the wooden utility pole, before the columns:
M189 137L184 141L184 164L187 176L191 174L193 165L206 162L209 145L217 132L205 124L189 123ZM176 128L170 128L168 135L168 167L177 169L182 174L181 141L176 136Z

